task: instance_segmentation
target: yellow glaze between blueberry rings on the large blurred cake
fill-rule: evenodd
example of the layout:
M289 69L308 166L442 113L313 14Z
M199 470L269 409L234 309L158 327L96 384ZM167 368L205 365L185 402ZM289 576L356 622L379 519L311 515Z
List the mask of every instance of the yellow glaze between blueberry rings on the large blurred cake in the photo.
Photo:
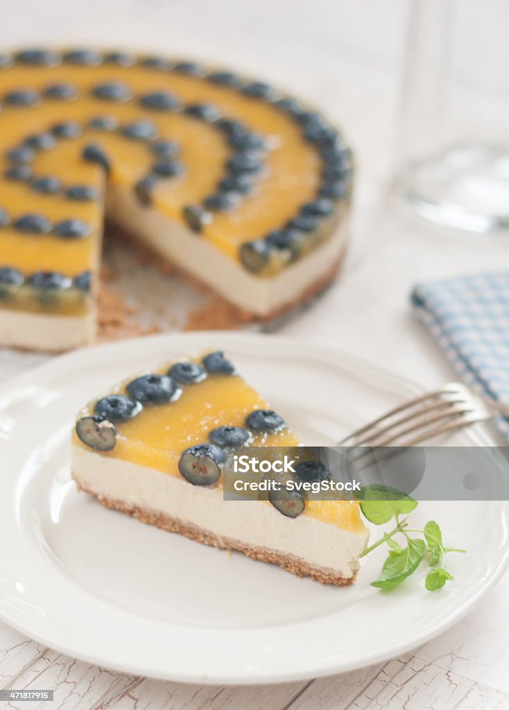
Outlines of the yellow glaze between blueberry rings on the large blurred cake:
M155 111L141 107L138 97L147 92L171 92L185 104L209 103L225 118L242 121L248 128L268 138L263 156L265 168L256 187L243 195L228 212L214 212L204 226L201 239L209 240L229 258L237 259L239 246L283 226L297 214L302 204L314 198L319 186L322 163L316 149L301 135L289 116L268 102L243 96L199 77L161 72L135 64L123 67L102 63L95 67L62 62L56 67L23 65L16 62L0 69L0 100L7 92L35 89L42 92L50 84L68 82L77 87L75 99L43 98L34 107L3 104L0 114L0 207L14 220L21 214L36 212L55 223L77 218L93 229L86 239L62 239L51 234L23 234L12 226L0 229L0 266L17 268L28 276L34 271L58 271L70 277L91 269L96 273L101 255L104 200L77 202L62 194L41 195L26 182L6 180L4 172L11 163L5 153L19 146L33 133L48 131L62 121L77 121L85 126L97 116L112 115L121 125L148 119L158 128L160 139L172 139L181 146L178 161L185 168L182 177L163 179L153 191L153 207L170 219L182 222L182 209L200 204L212 194L224 176L224 163L232 154L223 134L210 124L185 114ZM91 90L102 82L124 82L133 100L114 102L97 99ZM119 133L87 130L84 136L60 139L49 151L38 151L33 173L60 178L62 185L94 185L105 189L104 174L97 165L86 163L82 150L98 143L111 160L111 183L133 186L145 177L155 158L148 146ZM107 187L106 187L107 189ZM4 300L1 307L10 307ZM19 305L18 307L28 307ZM35 310L37 308L35 307Z

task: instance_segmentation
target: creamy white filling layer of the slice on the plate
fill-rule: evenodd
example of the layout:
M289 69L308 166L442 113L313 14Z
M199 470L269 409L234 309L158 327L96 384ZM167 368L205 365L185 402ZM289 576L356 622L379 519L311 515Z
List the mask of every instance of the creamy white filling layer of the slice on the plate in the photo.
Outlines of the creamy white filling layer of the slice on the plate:
M224 501L221 488L192 486L177 476L76 446L72 477L106 503L121 502L127 509L191 523L220 539L292 556L317 570L332 570L345 581L359 569L357 558L368 540L362 523L346 530L309 515L289 520L268 503Z

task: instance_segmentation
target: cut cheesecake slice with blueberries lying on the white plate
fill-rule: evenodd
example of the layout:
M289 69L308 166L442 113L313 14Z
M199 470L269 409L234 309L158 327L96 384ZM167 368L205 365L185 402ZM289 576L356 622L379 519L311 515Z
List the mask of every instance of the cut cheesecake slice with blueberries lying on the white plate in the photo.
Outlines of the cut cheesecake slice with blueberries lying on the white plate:
M225 501L225 452L299 444L221 352L166 364L80 412L72 477L144 523L324 584L351 584L368 531L353 501Z

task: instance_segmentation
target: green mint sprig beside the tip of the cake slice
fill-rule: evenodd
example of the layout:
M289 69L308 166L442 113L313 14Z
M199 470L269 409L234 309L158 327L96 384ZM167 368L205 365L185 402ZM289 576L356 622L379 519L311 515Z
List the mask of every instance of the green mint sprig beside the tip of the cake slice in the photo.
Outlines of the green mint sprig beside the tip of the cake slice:
M360 555L360 557L365 557L384 543L389 548L389 554L383 563L380 577L371 582L371 586L380 589L393 589L410 577L420 567L424 559L429 567L432 567L425 579L425 587L428 591L442 589L446 581L454 579L442 567L444 555L446 552L466 552L466 550L444 547L442 530L434 520L429 520L423 530L409 528L407 518L401 516L411 513L417 508L417 501L396 488L381 484L364 486L357 498L359 498L359 506L364 517L370 523L384 525L390 520L395 521L393 530L385 532L380 540L366 548ZM409 532L420 532L423 537L410 537ZM395 536L403 538L403 545L395 540Z

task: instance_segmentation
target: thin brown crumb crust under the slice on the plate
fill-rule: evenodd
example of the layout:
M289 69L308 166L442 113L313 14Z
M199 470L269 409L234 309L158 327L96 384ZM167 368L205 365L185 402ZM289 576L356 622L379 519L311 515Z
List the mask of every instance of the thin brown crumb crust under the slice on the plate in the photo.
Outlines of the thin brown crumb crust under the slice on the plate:
M202 545L217 547L219 550L236 550L237 552L243 552L246 557L258 559L261 562L268 562L270 564L278 564L279 567L285 569L286 572L296 574L297 577L310 577L315 581L319 581L320 584L346 586L353 584L356 579L357 572L354 572L351 577L342 577L341 574L337 574L337 572L334 572L332 569L313 567L311 564L305 562L305 560L295 557L294 555L283 555L275 550L268 550L266 547L255 547L253 545L247 545L245 542L240 542L239 540L232 540L229 537L219 537L192 523L185 523L183 520L170 518L168 515L155 513L153 510L128 506L123 501L115 501L112 498L95 493L87 486L76 481L76 479L75 482L80 491L92 493L92 496L95 496L99 503L105 508L121 510L122 513L132 515L133 518L138 518L142 523L155 525L156 528L166 530L167 532L177 532L178 535L184 535L184 537L189 538L189 540L201 542Z

